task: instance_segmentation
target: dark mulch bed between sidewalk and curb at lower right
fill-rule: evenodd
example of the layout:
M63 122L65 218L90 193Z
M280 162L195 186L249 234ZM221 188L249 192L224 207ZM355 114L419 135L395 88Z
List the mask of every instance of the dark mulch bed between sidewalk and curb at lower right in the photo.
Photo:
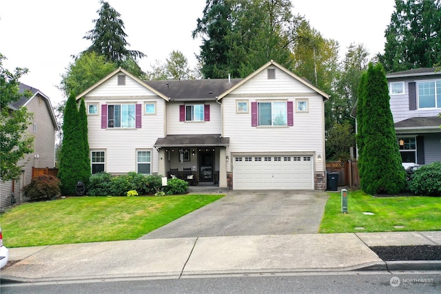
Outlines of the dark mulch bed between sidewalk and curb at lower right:
M440 245L369 247L384 261L441 260Z

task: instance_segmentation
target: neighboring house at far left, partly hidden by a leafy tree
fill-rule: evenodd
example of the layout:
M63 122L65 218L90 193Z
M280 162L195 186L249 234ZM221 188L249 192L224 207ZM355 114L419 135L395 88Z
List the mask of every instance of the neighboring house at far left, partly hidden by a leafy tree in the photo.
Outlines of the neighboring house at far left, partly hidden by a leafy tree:
M14 193L16 202L24 199L23 187L32 180L32 167L54 168L55 167L55 136L59 131L54 109L48 96L34 87L23 83L19 85L19 92L29 90L32 93L30 98L21 97L9 105L10 109L27 107L28 112L33 113L32 123L28 127L28 135L34 136L34 153L26 154L25 158L19 161L23 165L19 180L0 182L0 207L7 207L11 204L11 195Z

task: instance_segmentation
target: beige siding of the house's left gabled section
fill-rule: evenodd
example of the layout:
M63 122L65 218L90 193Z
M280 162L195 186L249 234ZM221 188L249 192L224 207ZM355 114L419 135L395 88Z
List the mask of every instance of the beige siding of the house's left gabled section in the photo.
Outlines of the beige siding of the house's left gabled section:
M126 79L126 82L129 79ZM145 89L145 92L148 91ZM101 105L133 103L144 107L146 101L156 103L155 115L141 115L140 129L106 128L101 129ZM136 171L136 150L152 151L152 173L158 171L158 152L153 145L165 134L165 101L158 96L109 97L107 100L96 100L85 97L86 103L98 103L99 115L88 116L88 139L91 151L105 151L105 171L111 174L126 174Z

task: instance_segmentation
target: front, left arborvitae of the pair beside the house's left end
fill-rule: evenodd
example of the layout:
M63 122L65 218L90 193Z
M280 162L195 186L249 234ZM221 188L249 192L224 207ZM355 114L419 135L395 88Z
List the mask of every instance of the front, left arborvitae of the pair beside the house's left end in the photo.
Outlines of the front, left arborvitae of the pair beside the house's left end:
M61 193L75 195L76 184L88 182L90 167L84 165L83 129L79 118L78 107L74 94L66 101L63 116L63 145L61 146L60 167L58 177L61 180Z

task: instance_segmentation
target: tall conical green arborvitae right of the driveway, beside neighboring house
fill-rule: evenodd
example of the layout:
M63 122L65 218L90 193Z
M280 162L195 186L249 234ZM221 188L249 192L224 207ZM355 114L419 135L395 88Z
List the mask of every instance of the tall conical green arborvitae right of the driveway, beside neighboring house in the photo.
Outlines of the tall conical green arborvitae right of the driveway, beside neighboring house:
M405 188L405 171L389 106L389 90L381 63L369 63L362 78L358 105L360 186L369 194L399 193ZM359 101L360 102L360 101Z

